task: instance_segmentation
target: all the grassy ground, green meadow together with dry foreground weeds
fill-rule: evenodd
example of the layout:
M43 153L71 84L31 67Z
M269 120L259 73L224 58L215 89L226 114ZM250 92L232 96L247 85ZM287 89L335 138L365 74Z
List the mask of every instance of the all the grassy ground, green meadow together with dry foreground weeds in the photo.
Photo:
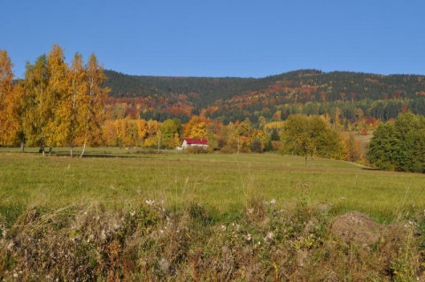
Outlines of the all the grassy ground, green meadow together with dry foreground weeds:
M424 278L421 174L273 154L66 152L0 152L5 281Z

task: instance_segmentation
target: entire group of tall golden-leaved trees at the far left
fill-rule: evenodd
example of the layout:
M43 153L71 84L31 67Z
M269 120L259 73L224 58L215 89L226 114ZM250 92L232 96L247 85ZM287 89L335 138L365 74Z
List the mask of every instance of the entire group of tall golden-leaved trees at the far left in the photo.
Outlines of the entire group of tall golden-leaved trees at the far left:
M0 144L21 148L101 145L104 100L110 89L103 66L92 54L84 64L75 53L70 65L57 44L27 63L25 78L13 83L12 61L0 50Z

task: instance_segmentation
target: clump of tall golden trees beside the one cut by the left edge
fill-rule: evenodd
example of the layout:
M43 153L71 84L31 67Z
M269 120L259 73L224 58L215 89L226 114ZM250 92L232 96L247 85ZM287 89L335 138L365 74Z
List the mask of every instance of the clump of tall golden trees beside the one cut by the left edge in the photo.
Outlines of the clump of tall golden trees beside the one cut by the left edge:
M30 146L71 147L100 144L104 100L109 89L103 87L103 67L95 55L86 65L80 54L66 64L64 50L54 44L49 54L38 57L34 65L27 63L22 82L23 132Z

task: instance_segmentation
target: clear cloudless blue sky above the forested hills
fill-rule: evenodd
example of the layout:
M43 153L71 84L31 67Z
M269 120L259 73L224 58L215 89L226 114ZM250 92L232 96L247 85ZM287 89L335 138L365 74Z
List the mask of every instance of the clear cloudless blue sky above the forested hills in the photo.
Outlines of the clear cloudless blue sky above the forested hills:
M22 77L57 43L137 75L424 74L423 0L1 0L0 50Z

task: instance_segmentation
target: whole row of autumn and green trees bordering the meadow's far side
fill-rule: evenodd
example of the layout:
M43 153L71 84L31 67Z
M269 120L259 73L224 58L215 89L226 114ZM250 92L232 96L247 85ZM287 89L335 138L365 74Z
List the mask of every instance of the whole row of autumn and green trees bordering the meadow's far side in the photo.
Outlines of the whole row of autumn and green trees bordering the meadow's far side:
M308 115L284 111L291 109L287 103L279 114L274 113L274 118L259 116L252 122L245 116L225 123L208 117L216 108L195 115L193 108L178 103L189 100L189 95L163 98L163 103L174 105L168 118L145 119L137 111L154 107L150 99L140 98L135 104L117 100L108 105L111 89L104 86L107 78L94 54L84 63L81 54L75 53L68 65L64 50L55 44L34 64L27 63L23 80L13 80L12 67L7 52L0 50L0 145L20 143L22 149L24 144L39 146L42 154L46 148L70 147L73 156L76 146L82 147L81 156L87 146L174 149L183 138L197 138L207 139L211 150L225 153L280 151L304 156L306 164L313 156L366 162L353 134L343 133L347 126L341 117L345 122L353 119L356 126L351 129L361 133L380 124L380 119L365 116L361 109L350 108L350 103L330 113L313 111L319 105L305 103L305 109L312 111ZM303 91L308 95L310 90ZM246 101L252 105L259 102L255 97ZM403 100L390 101L386 106L393 104L398 118L390 118L376 128L367 160L381 169L425 172L425 120L408 111ZM425 103L417 101L413 105L421 109ZM179 114L190 118L175 118Z

